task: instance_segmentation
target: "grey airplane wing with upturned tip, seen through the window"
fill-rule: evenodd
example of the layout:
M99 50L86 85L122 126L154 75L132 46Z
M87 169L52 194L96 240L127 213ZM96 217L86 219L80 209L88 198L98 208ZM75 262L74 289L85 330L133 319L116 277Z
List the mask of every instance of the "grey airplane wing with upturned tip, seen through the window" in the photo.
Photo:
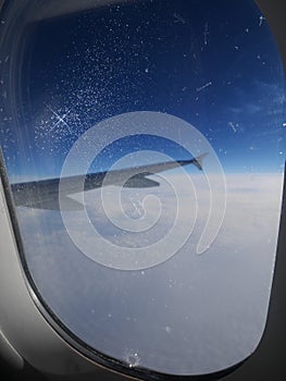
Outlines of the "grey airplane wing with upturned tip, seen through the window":
M157 181L147 179L147 176L167 171L177 167L188 164L196 165L200 171L202 170L202 159L207 153L190 160L167 161L154 164L147 164L122 170L88 173L85 175L84 190L91 190L107 185L121 185L129 188L146 188L160 186ZM69 197L73 194L82 192L83 175L74 175L63 179L48 179L25 183L11 184L11 190L15 206L60 210L59 205L59 186L61 183L61 208L64 210L83 209L83 205L73 198Z

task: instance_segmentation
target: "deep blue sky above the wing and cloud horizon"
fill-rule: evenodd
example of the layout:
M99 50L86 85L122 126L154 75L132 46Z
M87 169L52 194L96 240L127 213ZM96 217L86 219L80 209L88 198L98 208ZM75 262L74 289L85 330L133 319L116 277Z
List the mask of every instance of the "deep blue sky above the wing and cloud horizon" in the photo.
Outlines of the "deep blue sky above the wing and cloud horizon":
M22 111L9 126L21 144L4 144L11 173L58 175L87 128L130 111L191 123L228 172L283 171L283 69L252 1L138 1L28 28L15 105ZM117 144L113 158L103 153L100 165L134 149L186 158L162 140L135 140Z

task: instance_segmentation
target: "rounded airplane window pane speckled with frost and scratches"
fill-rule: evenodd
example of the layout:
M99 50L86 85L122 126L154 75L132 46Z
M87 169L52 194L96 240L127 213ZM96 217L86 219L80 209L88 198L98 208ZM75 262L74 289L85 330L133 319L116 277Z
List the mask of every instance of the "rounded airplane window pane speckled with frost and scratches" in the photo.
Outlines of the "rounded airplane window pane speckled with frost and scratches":
M0 144L41 310L126 371L235 366L266 322L285 164L264 16L250 0L51 3L0 15Z

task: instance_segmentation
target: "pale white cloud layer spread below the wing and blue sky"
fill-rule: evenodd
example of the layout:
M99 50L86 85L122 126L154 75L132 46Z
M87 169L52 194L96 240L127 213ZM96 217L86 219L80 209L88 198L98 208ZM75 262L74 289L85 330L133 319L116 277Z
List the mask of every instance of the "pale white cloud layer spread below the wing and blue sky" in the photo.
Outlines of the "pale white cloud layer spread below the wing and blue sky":
M195 248L210 202L202 176L192 179L198 216L189 241L173 258L144 272L98 266L76 250L60 213L18 209L34 279L60 319L103 353L124 359L134 348L141 366L182 374L217 371L254 351L266 318L283 185L282 174L227 175L222 229L209 250L198 256ZM138 236L114 236L117 230L100 207L90 211L92 222L115 244L137 247L156 242L170 231L175 216L171 190L151 189L161 198L162 216L153 230ZM196 198L185 188L176 190L184 197L184 223L194 216ZM125 192L135 202L150 189ZM89 206L100 205L99 195L100 189L86 195ZM112 198L110 207L120 222L121 210ZM128 208L132 214L133 205ZM157 212L152 205L147 210L151 217ZM74 221L77 217L71 212ZM100 251L100 239L86 235L80 220L77 224L87 244Z

